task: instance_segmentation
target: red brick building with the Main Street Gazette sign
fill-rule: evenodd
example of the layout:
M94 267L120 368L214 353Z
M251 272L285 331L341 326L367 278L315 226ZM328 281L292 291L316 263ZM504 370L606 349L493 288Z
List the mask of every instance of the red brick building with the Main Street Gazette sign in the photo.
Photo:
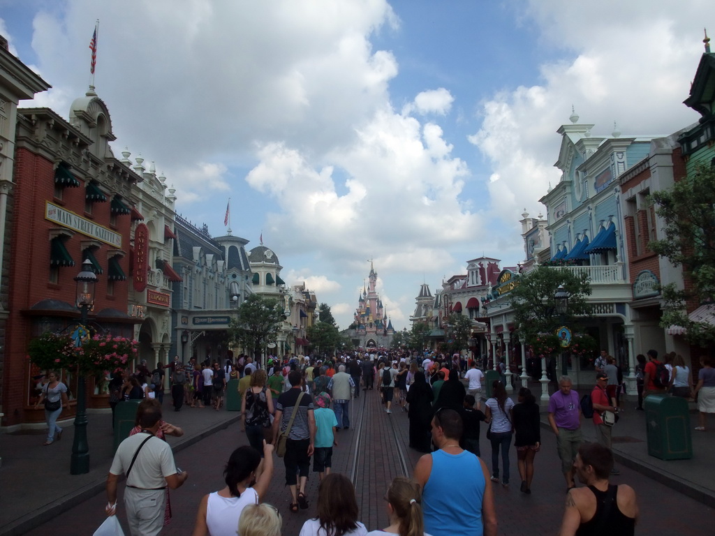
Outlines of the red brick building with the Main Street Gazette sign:
M141 178L114 157L113 140L109 110L92 87L71 104L69 121L49 108L18 110L2 378L7 427L44 420L43 410L34 410L41 371L26 359L27 343L48 330L62 332L77 324L74 277L84 259L92 262L98 278L90 324L133 335L135 320L127 315L128 199ZM74 412L77 378L62 374ZM90 383L89 393L93 387ZM88 407L106 403L101 395L87 400Z

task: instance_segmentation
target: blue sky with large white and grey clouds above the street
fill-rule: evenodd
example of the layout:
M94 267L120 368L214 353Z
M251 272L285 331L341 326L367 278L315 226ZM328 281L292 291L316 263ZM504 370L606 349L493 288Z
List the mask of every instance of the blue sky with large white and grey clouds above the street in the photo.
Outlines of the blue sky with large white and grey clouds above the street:
M395 328L426 282L523 259L571 106L593 135L671 134L715 34L688 0L0 0L0 34L67 116L89 84L119 156L156 162L177 212L275 250L352 321L374 259ZM714 45L715 46L715 45Z

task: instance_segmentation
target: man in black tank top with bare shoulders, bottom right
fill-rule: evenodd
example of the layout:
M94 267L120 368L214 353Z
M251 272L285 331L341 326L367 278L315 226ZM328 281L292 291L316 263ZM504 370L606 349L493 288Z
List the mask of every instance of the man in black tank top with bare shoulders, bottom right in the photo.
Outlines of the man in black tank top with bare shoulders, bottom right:
M626 485L610 485L613 453L598 443L578 449L573 470L588 487L574 487L566 495L559 536L633 536L638 519L636 492Z

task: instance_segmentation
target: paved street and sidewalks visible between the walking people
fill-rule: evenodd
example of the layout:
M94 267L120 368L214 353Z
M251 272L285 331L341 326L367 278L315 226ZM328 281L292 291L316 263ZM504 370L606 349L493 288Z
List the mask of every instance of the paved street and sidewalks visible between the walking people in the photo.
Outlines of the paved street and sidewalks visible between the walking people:
M361 395L352 402L352 429L342 430L338 435L340 445L335 449L333 469L355 482L361 520L373 530L387 525L382 497L390 480L396 475L411 475L420 454L407 447L406 414L385 415L375 391L361 392ZM189 480L172 492L174 519L163 533L189 535L200 498L222 487L225 460L235 447L247 442L245 434L238 430L237 412L184 408L175 413L166 401L164 406L167 421L183 427L186 432L184 437L169 438L169 442L179 466L189 471ZM708 432L693 432L691 460L665 462L647 455L645 419L644 412L636 412L633 403L626 402L626 412L613 430L614 452L621 467L621 477L616 477L614 482L628 482L636 487L646 518L645 527L650 523L654 530L663 529L657 531L660 534L681 534L682 527L678 523L688 519L691 535L710 534L711 520L715 519L712 508L715 469L711 460L715 450L715 425ZM546 422L546 414L543 421ZM99 526L106 503L104 482L112 460L109 414L90 415L88 432L91 471L75 476L69 475L71 426L67 427L64 439L50 447L41 446L44 434L40 432L0 436L3 457L0 534L92 534ZM584 432L586 437L592 434L590 423L586 423ZM484 439L482 452L490 466L490 448ZM500 486L496 490L500 534L553 534L558 530L563 512L563 479L557 472L553 435L543 430L543 449L538 455L533 495L518 492L513 449L511 458L514 489L503 490ZM276 471L267 502L280 508L284 535L297 535L302 522L315 515L317 478L311 476L309 480L310 509L292 514L288 510L290 501L284 486L282 460L275 460ZM687 497L674 493L672 488ZM666 504L662 502L666 496L668 511L661 513L659 508ZM126 527L125 520L123 523ZM525 523L531 523L527 532L524 532Z

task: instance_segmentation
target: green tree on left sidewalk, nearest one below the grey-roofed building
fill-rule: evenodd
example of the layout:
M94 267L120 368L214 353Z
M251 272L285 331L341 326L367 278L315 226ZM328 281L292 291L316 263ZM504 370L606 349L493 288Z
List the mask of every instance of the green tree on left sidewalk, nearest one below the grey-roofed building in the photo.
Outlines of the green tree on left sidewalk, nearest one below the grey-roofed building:
M231 319L228 336L231 342L260 359L266 344L275 340L284 320L283 307L277 299L251 294Z

